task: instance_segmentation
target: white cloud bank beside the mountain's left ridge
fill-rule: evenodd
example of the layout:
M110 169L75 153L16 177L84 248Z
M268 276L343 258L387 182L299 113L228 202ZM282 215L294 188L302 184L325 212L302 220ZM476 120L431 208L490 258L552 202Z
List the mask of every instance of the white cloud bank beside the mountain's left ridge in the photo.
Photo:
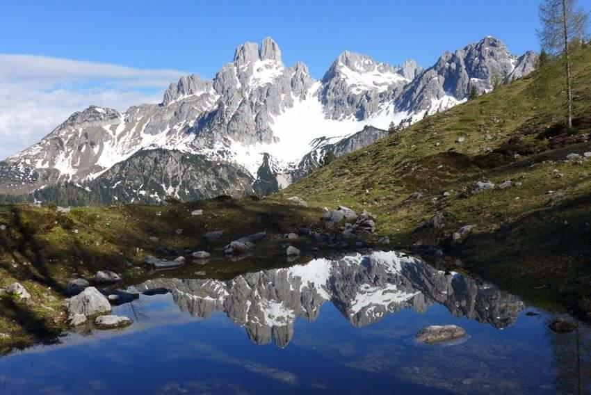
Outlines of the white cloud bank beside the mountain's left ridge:
M0 54L0 159L37 143L74 111L158 103L176 70Z

